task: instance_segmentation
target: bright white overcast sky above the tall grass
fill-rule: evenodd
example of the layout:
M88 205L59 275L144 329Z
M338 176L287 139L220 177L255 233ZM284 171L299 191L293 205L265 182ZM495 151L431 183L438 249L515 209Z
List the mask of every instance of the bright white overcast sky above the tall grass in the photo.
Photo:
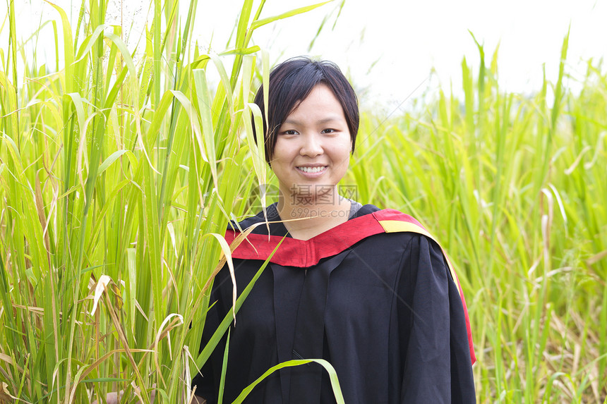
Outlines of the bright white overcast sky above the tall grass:
M116 20L108 23L119 23L120 0L112 2L110 13ZM313 3L314 0L268 0L262 17ZM484 43L487 63L500 44L499 80L504 89L533 92L541 86L542 66L546 66L549 80L557 77L560 47L571 27L568 71L581 76L584 65L580 61L607 54L606 3L607 0L346 0L333 28L339 7L335 0L306 15L261 27L253 41L270 50L272 61L300 54L335 61L364 93L361 95L365 104L381 102L386 109L399 105L407 109L406 100L411 93L416 97L423 91L435 91L439 84L449 87L450 82L459 91L462 58L466 56L469 63L479 65L479 51L469 31ZM59 20L58 13L42 0L15 0L15 4L18 37L22 39L35 30L40 20ZM68 15L73 10L75 26L80 1L57 0L56 4ZM187 5L186 1L181 4L182 12L187 11ZM240 7L241 0L198 1L198 43L224 50ZM5 13L3 2L0 23ZM140 35L147 14L148 1L123 0L125 25L128 16L136 18L133 37ZM308 51L327 14L330 18ZM43 32L40 44L52 37L49 25ZM0 33L5 51L7 34L5 23ZM39 61L44 55L54 60L52 48L52 42L39 46ZM431 76L432 68L438 75ZM575 85L575 80L569 84Z

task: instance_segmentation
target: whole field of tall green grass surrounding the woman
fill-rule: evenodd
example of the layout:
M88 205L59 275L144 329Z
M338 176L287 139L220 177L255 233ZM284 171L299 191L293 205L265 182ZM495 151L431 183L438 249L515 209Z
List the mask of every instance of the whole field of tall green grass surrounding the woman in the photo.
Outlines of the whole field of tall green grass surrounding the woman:
M149 403L154 385L188 402L222 231L272 182L247 127L270 68L251 35L306 9L262 18L245 1L226 51L203 54L196 1L186 20L153 1L136 56L103 26L107 6L83 3L76 21L56 7L35 33L54 35L52 60L23 50L12 3L1 25L0 402L124 389ZM589 61L572 94L566 51L531 97L500 90L497 55L479 47L462 99L364 111L343 180L450 253L481 403L607 400L607 75Z

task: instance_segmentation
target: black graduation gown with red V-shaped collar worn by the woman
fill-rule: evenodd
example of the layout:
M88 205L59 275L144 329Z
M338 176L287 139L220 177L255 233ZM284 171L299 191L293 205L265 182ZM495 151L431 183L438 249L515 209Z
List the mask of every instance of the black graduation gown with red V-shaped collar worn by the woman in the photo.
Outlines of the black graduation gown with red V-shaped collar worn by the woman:
M370 226L362 216L374 212L385 211L365 205L356 213L360 226L342 224L317 236L319 243L306 244L306 251L292 244L280 257L275 254L232 324L224 403L232 403L270 367L301 358L330 362L347 404L476 401L465 303L442 250L425 235L403 231L356 242L352 234ZM261 213L240 226L260 221ZM253 233L268 239L265 224ZM270 224L270 235L286 233L284 225ZM241 246L248 252L239 255L237 249L234 257L250 258L234 259L239 293L267 257L263 248L252 252L246 241ZM215 305L206 317L201 349L232 310L227 267L215 278L210 302ZM193 380L196 394L209 404L217 402L225 341ZM335 398L323 367L311 363L275 372L245 403L335 403Z

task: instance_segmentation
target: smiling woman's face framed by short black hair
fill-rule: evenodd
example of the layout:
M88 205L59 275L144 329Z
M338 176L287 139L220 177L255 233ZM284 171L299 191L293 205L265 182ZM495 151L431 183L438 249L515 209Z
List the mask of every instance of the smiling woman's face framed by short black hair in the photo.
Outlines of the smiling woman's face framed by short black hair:
M329 87L316 85L277 133L272 170L282 195L296 204L335 190L348 169L351 148L342 105Z

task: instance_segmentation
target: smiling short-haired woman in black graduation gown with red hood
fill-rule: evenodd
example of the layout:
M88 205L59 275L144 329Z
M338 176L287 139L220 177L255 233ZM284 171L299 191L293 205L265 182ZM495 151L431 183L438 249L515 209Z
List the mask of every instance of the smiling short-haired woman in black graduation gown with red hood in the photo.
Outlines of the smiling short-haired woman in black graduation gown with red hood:
M263 114L263 89L255 102ZM349 82L333 63L290 59L270 73L268 105L264 142L280 199L268 208L270 237L257 226L234 251L239 292L282 244L236 314L224 402L277 363L323 358L346 403L473 403L467 312L442 250L410 216L337 192L359 126ZM264 221L260 213L232 224L226 238ZM202 346L232 307L227 269L210 301ZM225 339L193 381L208 403L217 400L224 349ZM246 402L335 398L311 363L275 372Z

